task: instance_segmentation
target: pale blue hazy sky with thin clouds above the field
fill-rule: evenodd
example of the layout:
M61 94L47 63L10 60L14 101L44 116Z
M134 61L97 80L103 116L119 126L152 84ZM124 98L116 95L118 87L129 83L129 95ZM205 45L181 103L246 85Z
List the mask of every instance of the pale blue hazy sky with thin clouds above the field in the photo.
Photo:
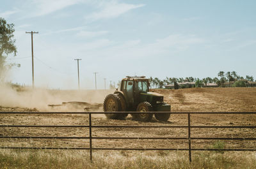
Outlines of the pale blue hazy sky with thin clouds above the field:
M104 89L134 75L256 78L256 1L1 0L0 17L15 24L17 56L8 80L31 85Z

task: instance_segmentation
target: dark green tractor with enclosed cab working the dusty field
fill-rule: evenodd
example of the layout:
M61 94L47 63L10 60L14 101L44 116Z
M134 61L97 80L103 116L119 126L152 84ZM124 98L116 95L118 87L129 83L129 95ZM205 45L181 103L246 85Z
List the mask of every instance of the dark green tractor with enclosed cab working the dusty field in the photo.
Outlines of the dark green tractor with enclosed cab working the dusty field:
M164 97L157 92L149 91L149 79L143 77L129 77L122 79L120 91L116 89L113 94L108 94L104 99L104 112L125 112L118 114L105 114L108 119L125 119L129 112L136 121L151 121L155 115L158 121L168 121L171 106L164 103ZM154 112L143 114L142 112ZM166 112L157 114L157 112Z

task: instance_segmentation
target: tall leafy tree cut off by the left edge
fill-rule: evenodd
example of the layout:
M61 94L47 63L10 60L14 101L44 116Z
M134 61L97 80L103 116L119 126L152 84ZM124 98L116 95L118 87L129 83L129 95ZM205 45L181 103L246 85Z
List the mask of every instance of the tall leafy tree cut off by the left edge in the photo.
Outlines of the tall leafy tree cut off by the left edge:
M8 24L4 18L0 17L0 81L3 81L6 70L15 65L6 65L8 54L14 53L16 55L17 52L13 39L14 31L14 24Z

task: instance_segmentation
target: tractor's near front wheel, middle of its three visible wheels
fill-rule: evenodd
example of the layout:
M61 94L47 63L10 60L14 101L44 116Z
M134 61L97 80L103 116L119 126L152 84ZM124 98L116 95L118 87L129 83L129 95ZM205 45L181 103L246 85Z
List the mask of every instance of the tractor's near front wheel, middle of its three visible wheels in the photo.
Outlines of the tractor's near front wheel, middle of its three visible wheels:
M150 103L147 101L141 102L137 109L136 112L152 112L153 107ZM153 114L132 114L133 119L136 121L151 121Z

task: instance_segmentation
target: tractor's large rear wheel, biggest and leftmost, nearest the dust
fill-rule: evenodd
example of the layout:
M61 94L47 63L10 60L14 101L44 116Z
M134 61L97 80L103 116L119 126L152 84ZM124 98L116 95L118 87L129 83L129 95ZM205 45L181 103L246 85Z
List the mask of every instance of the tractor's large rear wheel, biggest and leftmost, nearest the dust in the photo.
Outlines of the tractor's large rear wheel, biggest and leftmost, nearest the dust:
M109 94L104 99L103 103L104 112L120 112L122 111L122 105L118 94ZM125 119L124 114L105 114L108 119Z

